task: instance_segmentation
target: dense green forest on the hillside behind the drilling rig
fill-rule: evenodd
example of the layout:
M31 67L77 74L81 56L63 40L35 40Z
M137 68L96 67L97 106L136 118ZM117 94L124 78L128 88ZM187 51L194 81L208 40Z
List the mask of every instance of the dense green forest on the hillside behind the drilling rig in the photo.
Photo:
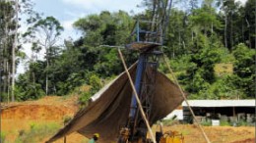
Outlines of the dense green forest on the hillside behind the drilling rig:
M145 2L147 8L151 8L150 0ZM170 59L171 68L191 99L253 98L256 78L254 0L248 0L245 5L230 0L204 0L201 6L198 3L190 0L185 10L171 10L162 48ZM130 16L123 11L103 11L79 19L74 27L82 31L82 37L65 40L64 47L44 46L47 50L44 60L33 59L29 70L18 77L16 96L28 100L45 94L66 95L88 84L91 90L81 97L82 104L86 104L106 78L123 71L117 50L105 45L125 44L134 19L148 18L150 13L146 10ZM40 18L33 22L32 28L47 19L57 21L52 17ZM27 34L36 39L36 35L31 34L35 31L32 28ZM50 29L60 34L61 30ZM39 50L36 44L38 42L32 44L35 53ZM123 52L128 65L136 61L138 54ZM168 73L164 65L160 66L160 71Z

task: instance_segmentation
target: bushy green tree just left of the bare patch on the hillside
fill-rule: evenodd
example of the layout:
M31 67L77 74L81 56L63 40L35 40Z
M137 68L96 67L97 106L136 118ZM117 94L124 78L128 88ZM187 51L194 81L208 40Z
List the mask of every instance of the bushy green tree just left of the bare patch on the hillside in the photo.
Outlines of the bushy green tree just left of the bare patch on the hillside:
M186 91L199 97L202 95L201 98L208 98L208 88L218 80L214 67L224 61L228 51L224 49L217 35L208 38L200 34L194 46L186 73L181 74L179 78L182 79Z

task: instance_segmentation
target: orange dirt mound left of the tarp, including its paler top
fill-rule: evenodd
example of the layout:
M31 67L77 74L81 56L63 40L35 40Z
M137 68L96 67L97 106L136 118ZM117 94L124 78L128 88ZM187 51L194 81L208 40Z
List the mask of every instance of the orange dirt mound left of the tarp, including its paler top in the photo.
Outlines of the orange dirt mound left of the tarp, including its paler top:
M15 102L3 106L2 119L57 120L73 117L78 110L78 96L45 96L36 101Z

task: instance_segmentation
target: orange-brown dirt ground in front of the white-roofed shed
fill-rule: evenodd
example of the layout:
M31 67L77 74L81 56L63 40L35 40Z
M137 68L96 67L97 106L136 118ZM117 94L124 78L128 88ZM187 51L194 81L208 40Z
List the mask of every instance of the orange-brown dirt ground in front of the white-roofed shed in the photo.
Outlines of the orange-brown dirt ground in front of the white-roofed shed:
M254 143L255 127L251 126L204 126L212 143ZM206 140L198 126L192 124L176 124L163 127L163 131L175 130L184 135L185 143L205 143ZM244 142L252 141L253 142Z

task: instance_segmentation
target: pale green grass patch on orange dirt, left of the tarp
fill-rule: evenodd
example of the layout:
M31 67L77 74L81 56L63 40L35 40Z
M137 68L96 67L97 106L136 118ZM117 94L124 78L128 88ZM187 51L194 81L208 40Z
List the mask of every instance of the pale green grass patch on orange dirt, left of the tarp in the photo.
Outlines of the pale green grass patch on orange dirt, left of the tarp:
M16 143L32 143L43 141L46 137L54 134L60 125L55 122L32 123L30 130L20 130Z

